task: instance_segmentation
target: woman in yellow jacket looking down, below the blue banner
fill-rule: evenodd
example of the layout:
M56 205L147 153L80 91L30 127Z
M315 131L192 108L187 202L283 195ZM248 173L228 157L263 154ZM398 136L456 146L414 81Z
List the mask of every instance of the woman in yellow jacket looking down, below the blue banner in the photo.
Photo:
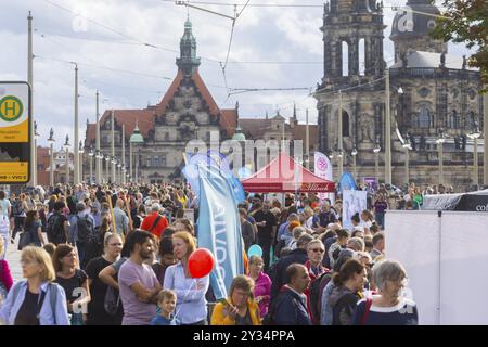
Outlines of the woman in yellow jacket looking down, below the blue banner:
M259 306L253 291L253 279L236 275L232 280L229 297L215 306L211 325L260 325Z

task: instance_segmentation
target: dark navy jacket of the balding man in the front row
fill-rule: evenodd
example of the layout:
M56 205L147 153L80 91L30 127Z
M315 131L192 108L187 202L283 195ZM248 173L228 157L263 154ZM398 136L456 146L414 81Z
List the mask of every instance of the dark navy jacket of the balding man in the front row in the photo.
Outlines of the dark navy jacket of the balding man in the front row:
M287 286L283 286L273 303L275 325L311 325L307 310L307 297L299 295Z

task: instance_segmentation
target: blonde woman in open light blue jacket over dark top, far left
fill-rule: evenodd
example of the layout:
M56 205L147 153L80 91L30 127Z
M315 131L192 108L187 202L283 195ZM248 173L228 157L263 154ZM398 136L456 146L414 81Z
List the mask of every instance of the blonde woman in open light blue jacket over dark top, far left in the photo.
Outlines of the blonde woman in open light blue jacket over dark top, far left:
M69 325L66 295L56 283L49 254L28 246L21 255L22 272L0 309L0 321L8 325Z

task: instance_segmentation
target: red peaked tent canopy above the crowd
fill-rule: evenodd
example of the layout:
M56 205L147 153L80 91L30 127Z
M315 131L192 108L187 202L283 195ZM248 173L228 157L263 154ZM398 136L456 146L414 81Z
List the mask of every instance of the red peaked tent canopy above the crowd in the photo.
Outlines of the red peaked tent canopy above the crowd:
M329 193L335 191L335 183L324 180L286 153L281 153L252 177L241 181L245 191L252 193Z

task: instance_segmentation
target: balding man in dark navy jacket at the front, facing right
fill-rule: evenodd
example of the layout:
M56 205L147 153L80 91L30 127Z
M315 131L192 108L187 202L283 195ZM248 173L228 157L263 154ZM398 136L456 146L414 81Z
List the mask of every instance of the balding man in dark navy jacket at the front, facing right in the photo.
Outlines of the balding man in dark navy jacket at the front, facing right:
M308 270L301 264L292 264L286 268L286 275L290 280L272 304L273 322L277 325L311 325L304 294L310 284Z

